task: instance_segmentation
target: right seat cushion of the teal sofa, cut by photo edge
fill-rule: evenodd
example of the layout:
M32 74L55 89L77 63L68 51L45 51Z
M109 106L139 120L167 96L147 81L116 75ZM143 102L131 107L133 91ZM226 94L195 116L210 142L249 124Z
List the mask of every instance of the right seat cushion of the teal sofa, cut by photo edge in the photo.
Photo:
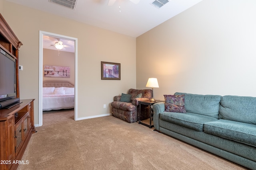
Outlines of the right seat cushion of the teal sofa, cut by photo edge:
M204 124L204 132L256 146L256 125L219 119Z

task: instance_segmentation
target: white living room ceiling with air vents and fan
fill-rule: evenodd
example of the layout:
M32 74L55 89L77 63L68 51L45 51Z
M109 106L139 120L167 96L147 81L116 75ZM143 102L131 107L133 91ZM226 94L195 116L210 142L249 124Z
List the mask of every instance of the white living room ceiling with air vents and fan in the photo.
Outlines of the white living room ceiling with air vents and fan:
M138 4L130 0L116 0L113 6L108 6L108 0L77 0L74 10L53 4L49 0L7 1L131 37L138 37L202 0L170 0L160 9L150 4L154 0L140 0ZM54 44L54 41L52 43ZM44 45L46 44L44 41ZM65 45L66 42L63 41L63 44ZM45 48L55 49L49 46Z

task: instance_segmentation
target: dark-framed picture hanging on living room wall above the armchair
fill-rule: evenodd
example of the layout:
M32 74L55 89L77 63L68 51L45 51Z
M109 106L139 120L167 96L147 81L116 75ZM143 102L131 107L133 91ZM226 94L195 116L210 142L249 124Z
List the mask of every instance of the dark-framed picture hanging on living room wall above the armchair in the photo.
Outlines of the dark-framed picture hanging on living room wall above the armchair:
M121 64L101 61L101 80L121 80Z

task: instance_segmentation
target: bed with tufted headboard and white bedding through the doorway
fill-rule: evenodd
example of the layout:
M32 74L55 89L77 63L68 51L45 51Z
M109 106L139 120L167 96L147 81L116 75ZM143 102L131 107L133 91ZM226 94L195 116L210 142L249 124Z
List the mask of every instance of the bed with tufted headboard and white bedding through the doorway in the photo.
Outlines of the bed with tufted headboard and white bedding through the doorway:
M70 82L43 82L43 111L74 108L74 91Z

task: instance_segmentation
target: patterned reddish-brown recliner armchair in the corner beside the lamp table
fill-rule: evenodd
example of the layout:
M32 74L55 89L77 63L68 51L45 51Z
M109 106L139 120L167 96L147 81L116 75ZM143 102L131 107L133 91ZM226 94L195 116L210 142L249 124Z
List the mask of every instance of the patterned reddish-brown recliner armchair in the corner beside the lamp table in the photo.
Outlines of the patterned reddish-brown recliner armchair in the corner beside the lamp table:
M123 97L128 96L130 98L126 102ZM114 102L111 103L112 115L129 123L139 120L139 101L145 101L152 98L152 89L129 89L128 95L122 94L122 96L114 96ZM130 100L129 100L130 99ZM141 105L140 120L148 119L151 114L149 106Z

